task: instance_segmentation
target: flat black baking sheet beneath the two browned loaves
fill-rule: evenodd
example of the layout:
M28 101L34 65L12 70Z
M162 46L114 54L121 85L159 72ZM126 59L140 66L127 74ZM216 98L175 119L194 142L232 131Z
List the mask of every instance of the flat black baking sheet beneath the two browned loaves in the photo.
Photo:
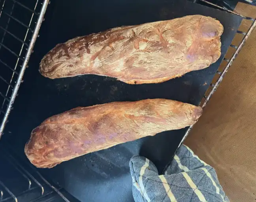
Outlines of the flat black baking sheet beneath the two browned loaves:
M57 43L73 37L116 26L194 14L211 16L224 26L222 55L207 69L160 84L141 85L95 75L51 80L38 72L43 55ZM174 99L199 105L240 23L239 16L186 0L52 1L2 142L9 141L24 157L24 144L34 127L49 116L77 106L147 98ZM133 201L130 158L137 154L148 157L161 172L171 160L185 131L181 129L145 137L66 161L55 168L39 170L81 201Z

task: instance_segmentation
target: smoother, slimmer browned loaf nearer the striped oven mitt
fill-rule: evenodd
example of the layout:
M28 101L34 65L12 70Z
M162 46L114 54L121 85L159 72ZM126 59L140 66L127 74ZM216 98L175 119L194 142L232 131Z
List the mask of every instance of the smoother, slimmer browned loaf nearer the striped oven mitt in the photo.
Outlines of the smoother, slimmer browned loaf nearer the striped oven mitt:
M32 164L51 168L62 161L194 124L200 107L168 99L77 107L36 127L26 143Z

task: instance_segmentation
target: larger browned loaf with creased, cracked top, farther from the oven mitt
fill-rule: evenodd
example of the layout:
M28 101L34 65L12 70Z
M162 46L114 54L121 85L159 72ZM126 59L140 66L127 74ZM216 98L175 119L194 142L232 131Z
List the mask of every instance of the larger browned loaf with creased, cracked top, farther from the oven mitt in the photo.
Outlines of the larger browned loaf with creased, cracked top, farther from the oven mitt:
M203 69L220 57L219 21L190 15L109 29L58 44L40 64L51 79L95 74L128 84L158 83Z

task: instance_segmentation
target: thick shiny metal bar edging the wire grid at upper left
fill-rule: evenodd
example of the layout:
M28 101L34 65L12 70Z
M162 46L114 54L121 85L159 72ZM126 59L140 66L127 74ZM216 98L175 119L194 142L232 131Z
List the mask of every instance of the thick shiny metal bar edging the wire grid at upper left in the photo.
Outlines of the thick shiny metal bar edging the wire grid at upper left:
M2 134L3 134L4 127L6 125L8 116L9 116L9 114L11 112L11 108L12 108L13 102L15 100L15 97L17 96L17 93L18 93L18 90L19 90L19 86L21 85L21 81L22 81L24 72L26 70L26 66L28 65L28 60L29 60L29 58L30 58L30 56L32 54L32 49L33 49L34 44L36 42L36 38L38 37L40 26L41 26L41 24L43 22L43 16L45 14L45 11L47 9L48 4L49 4L49 0L44 0L43 1L42 7L41 7L41 11L40 11L40 15L38 16L38 20L36 22L36 27L35 27L35 30L33 32L32 37L31 37L31 40L30 40L30 43L29 43L29 46L28 46L28 50L27 50L25 58L24 58L24 62L22 64L22 67L21 67L21 70L20 70L20 73L19 73L16 85L15 85L15 87L13 89L13 93L11 94L9 105L8 105L8 107L6 109L6 113L4 115L4 119L3 119L2 125L0 126L0 138L1 138ZM30 21L30 23L31 23L31 21Z

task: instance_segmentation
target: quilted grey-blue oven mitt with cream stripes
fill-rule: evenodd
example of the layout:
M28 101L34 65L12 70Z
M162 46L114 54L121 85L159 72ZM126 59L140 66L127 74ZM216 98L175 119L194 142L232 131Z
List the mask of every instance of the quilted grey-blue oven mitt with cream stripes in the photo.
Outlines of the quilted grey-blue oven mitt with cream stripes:
M229 202L215 169L185 145L177 150L164 175L158 175L156 166L141 156L132 157L130 172L136 202Z

